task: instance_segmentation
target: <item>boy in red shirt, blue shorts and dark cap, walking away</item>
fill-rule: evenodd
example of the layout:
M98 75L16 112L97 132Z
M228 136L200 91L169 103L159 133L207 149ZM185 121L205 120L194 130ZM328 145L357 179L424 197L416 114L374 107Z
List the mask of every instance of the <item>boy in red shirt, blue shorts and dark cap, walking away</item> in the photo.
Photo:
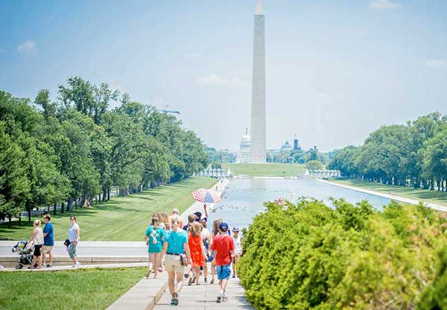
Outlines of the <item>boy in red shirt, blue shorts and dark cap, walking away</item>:
M227 234L228 224L219 225L220 234L212 239L211 250L216 251L217 278L221 291L217 296L217 302L226 301L225 289L231 274L231 260L235 250L235 242L232 236Z

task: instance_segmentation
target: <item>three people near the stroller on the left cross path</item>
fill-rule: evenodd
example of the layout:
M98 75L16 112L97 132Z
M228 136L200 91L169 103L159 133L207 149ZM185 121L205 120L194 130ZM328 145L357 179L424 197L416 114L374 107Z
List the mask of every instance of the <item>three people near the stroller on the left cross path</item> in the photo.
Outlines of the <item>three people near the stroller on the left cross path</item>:
M54 227L51 222L50 214L43 216L45 227L41 227L40 220L34 220L34 229L28 240L27 247L34 245L34 252L32 254L32 264L29 269L49 268L53 265L53 247L54 247ZM79 242L79 225L76 223L76 216L70 216L70 223L68 229L68 239L64 244L67 247L67 252L73 260L72 267L80 266L80 262L76 258L76 246ZM50 262L47 263L47 254L50 256Z

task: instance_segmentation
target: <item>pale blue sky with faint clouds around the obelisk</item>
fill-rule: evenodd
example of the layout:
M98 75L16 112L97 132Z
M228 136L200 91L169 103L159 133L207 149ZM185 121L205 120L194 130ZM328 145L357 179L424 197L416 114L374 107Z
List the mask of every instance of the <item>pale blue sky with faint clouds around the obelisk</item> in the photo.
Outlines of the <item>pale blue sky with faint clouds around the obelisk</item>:
M0 0L0 89L55 99L69 76L181 111L214 147L250 128L257 0ZM326 151L447 114L447 1L264 0L267 146Z

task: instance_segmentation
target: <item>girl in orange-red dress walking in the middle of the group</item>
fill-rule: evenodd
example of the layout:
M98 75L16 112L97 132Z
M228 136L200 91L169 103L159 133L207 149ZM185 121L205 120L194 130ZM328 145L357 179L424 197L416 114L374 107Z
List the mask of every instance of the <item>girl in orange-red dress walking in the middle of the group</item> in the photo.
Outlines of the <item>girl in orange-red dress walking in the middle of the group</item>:
M195 273L194 278L189 278L188 285L193 284L194 280L195 284L199 285L200 267L204 265L205 248L204 242L201 240L201 227L199 222L194 222L188 229L188 245L191 252L191 258L193 258L191 272Z

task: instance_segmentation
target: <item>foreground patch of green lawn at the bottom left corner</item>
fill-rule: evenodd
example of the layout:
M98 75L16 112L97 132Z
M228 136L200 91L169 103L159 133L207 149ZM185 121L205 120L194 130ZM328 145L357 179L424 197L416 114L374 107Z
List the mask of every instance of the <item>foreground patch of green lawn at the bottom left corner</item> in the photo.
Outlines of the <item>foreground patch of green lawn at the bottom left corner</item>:
M0 272L0 309L106 309L146 268Z

